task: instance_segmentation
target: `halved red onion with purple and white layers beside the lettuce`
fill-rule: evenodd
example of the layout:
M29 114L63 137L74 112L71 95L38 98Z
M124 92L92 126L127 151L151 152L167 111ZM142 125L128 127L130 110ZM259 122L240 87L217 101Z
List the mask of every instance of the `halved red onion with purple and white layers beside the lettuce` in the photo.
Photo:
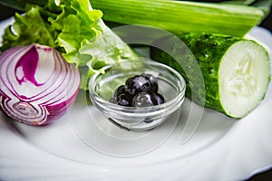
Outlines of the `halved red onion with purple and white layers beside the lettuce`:
M80 74L53 48L30 44L0 55L0 106L19 122L44 125L73 105Z

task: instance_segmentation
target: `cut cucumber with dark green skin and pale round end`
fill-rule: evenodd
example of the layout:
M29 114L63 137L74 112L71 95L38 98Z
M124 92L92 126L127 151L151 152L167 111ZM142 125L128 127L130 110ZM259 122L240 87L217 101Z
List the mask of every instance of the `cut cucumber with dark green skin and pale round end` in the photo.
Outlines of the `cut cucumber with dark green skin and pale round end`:
M270 61L268 52L260 44L212 33L177 36L184 43L183 48L180 49L176 37L163 37L151 46L151 59L180 72L187 82L187 97L237 119L247 116L265 98ZM169 52L155 48L160 44ZM191 66L194 61L200 72Z

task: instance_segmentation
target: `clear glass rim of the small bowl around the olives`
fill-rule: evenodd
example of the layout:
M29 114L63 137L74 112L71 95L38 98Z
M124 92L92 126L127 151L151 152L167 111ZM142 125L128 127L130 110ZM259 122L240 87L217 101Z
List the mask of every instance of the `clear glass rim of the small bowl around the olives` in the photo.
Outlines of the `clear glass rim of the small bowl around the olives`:
M179 81L180 81L180 85L181 87L179 86L179 93L176 97L172 98L171 100L168 100L162 104L159 104L159 105L154 105L154 106L148 106L148 107L126 107L126 106L121 106L121 105L118 105L118 104L114 104L112 102L110 102L109 100L104 100L102 99L102 97L94 90L96 84L95 84L95 80L97 79L97 77L101 74L104 74L104 72L108 69L111 69L112 67L118 65L118 64L121 64L123 62L144 62L144 63L147 63L147 64L150 64L150 65L156 65L156 66L161 66L161 67L164 67L165 69L169 70L170 72L174 73L174 75L176 77L178 77ZM183 78L183 76L180 75L180 73L178 71L176 71L175 69L171 68L170 66L166 65L166 64L163 64L163 63L160 63L160 62L155 62L155 61L152 61L152 60L126 60L126 61L121 61L121 62L116 62L116 63L112 63L110 65L106 65L104 67L102 67L101 71L96 71L90 81L89 81L89 84L88 84L88 88L89 88L89 96L92 100L92 104L93 105L98 105L99 107L101 107L101 105L99 104L103 104L104 107L108 107L109 109L111 110L116 110L116 111L121 111L121 112L128 112L128 111L131 111L131 113L144 113L146 111L150 111L152 112L152 110L154 111L158 111L158 110L164 110L165 108L172 108L172 107L175 107L175 105L177 103L179 103L180 101L183 101L184 100L184 97L185 97L185 90L186 90L186 82ZM97 103L99 102L99 103ZM170 109L169 109L170 110Z

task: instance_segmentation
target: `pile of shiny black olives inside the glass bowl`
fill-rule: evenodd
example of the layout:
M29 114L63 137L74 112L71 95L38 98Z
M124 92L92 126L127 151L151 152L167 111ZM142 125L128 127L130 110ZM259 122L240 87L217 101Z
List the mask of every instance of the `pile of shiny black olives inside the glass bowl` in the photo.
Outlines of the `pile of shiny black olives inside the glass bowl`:
M157 79L149 73L135 75L113 93L110 102L126 107L148 107L164 103Z

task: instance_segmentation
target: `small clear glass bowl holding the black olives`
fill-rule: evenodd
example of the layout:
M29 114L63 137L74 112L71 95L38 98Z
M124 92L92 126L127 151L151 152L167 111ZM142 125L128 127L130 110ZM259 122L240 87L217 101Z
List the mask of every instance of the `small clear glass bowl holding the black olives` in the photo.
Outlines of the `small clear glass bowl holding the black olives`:
M125 107L110 102L114 90L128 78L150 73L157 78L158 92L164 103L149 107ZM89 81L92 104L115 125L128 130L148 130L158 127L178 110L185 97L186 84L178 71L159 62L139 58L118 62L96 72Z

